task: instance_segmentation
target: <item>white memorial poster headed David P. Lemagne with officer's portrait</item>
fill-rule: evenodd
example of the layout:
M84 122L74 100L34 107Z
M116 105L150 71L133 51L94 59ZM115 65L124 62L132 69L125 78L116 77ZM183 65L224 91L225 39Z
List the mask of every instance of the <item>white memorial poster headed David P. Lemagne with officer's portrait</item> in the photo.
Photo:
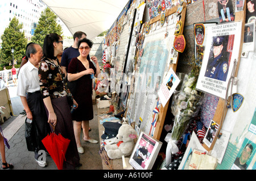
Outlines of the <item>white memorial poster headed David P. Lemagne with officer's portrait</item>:
M242 22L208 28L203 62L196 89L225 99L234 62L240 52Z

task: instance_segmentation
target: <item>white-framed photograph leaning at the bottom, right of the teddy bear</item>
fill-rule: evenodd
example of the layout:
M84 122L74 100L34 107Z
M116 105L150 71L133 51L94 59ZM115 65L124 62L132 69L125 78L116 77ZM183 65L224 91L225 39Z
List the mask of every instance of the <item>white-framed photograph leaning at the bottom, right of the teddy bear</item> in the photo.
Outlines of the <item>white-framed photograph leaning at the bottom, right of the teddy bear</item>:
M136 170L152 169L161 146L162 142L141 132L129 159L129 163Z

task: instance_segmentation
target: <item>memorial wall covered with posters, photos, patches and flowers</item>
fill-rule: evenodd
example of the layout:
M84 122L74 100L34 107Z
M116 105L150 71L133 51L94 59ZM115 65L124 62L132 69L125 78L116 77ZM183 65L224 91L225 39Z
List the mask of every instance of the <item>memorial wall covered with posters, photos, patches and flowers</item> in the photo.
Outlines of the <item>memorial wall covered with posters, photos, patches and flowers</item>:
M103 72L135 169L256 169L254 3L134 0L113 22Z

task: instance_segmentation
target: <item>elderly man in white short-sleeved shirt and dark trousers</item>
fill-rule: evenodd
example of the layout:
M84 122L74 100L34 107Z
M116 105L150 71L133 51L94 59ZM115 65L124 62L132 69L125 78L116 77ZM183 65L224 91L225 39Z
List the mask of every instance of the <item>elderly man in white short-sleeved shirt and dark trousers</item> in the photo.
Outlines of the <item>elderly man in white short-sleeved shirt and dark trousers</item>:
M42 139L51 132L48 117L40 93L38 66L43 57L43 50L39 44L31 43L27 47L28 61L20 68L18 75L17 95L20 96L27 121L32 124L32 141L27 140L28 151L35 152L36 162L40 167L47 166L45 159L39 159L39 150L45 150ZM32 120L32 122L31 122Z

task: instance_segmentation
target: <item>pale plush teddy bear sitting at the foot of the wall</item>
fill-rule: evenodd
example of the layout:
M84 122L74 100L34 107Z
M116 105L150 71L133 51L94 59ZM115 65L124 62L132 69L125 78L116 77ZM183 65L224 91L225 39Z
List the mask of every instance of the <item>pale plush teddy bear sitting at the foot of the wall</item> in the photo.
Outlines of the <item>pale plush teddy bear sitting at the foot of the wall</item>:
M137 134L133 127L126 121L123 121L121 127L118 129L118 134L114 139L115 144L105 145L105 150L110 159L122 158L131 155L134 148L134 139Z

